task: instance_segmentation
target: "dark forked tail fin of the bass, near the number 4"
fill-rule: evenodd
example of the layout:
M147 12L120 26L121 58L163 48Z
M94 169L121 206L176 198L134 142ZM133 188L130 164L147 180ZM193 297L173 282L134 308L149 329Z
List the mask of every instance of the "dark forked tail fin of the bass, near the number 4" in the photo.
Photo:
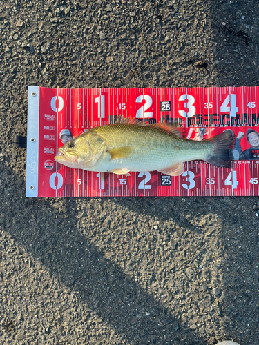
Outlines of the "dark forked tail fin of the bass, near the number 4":
M231 168L231 143L234 135L232 130L224 130L220 135L215 135L210 139L204 141L211 141L213 143L213 150L207 155L204 161L207 161L214 166Z

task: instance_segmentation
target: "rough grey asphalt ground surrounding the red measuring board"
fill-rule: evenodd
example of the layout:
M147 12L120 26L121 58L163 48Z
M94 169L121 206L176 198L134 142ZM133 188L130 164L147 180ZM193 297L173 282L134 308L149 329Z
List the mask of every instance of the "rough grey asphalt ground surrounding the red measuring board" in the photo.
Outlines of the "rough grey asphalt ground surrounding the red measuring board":
M28 85L257 86L251 1L0 1L0 343L258 345L258 197L26 199Z

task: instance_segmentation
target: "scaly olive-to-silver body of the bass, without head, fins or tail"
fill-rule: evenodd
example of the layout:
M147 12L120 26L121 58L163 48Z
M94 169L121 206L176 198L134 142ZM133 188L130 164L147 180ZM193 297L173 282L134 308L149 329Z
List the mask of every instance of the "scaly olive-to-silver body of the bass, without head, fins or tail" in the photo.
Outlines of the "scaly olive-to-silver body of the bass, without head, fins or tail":
M184 159L204 159L211 152L211 142L202 143L180 137L152 126L135 124L113 124L93 128L93 132L103 137L108 148L131 147L133 152L124 159L111 161L111 167L130 171L151 171L168 168ZM102 162L96 166L99 171ZM110 169L112 170L112 169ZM100 170L101 171L101 170Z

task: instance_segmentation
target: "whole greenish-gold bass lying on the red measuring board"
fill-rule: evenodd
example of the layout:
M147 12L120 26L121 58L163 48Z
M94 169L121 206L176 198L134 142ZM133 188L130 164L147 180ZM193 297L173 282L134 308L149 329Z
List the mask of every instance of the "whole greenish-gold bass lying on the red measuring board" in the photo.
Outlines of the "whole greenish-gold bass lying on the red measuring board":
M219 167L231 167L231 130L203 141L184 139L181 129L171 124L143 124L133 118L117 117L115 124L97 126L59 148L55 161L70 168L94 172L157 170L178 176L184 162L204 160Z

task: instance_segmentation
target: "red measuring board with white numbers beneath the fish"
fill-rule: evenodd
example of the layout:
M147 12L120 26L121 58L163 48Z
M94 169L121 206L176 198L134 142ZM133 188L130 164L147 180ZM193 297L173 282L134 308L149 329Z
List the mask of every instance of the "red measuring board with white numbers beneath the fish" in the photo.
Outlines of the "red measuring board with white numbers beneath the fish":
M51 89L29 86L26 196L258 195L259 88ZM131 176L67 168L54 160L64 140L118 115L146 124L173 123L203 140L233 131L233 168L189 161L182 175ZM62 135L63 133L63 135ZM64 139L65 138L65 139Z

